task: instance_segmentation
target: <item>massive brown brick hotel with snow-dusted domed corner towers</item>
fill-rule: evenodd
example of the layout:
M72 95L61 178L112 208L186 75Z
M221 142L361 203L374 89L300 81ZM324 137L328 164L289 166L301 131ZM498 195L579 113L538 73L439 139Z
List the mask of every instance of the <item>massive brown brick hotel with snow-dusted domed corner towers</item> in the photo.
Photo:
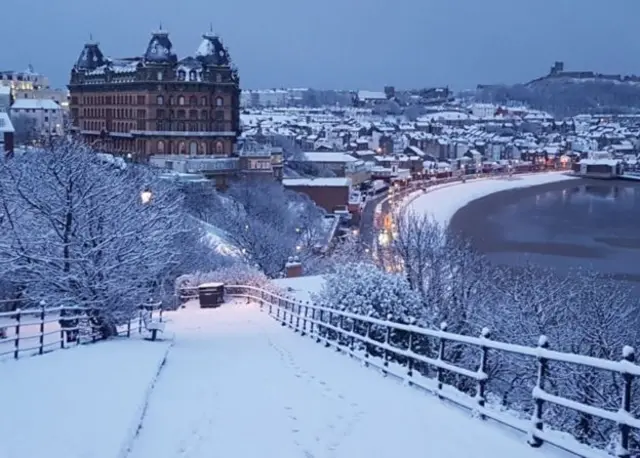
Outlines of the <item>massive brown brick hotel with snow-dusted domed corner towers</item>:
M213 33L182 59L164 30L152 34L141 57L108 58L89 42L71 71L72 128L95 148L137 161L232 157L240 134L239 84L227 48Z

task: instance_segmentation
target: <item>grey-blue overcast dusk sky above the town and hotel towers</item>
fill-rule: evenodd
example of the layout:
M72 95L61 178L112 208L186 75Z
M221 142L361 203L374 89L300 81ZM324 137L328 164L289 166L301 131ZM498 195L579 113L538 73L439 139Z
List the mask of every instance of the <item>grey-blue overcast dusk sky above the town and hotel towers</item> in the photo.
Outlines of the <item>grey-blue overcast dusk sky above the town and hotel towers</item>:
M640 74L638 0L5 1L0 69L54 86L89 34L108 56L144 52L162 23L179 57L218 32L242 87L381 90L524 82L567 70Z

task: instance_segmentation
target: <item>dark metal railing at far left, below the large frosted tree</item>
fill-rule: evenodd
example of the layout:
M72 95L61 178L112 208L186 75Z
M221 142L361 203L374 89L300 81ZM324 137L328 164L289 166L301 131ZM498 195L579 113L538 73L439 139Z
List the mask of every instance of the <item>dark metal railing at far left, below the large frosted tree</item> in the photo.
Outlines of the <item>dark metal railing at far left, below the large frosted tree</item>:
M16 301L11 301L16 302ZM142 334L147 324L162 321L160 303L138 307L135 317L116 327L116 334ZM96 342L99 326L92 322L87 307L45 307L0 312L0 359L12 355L42 355L70 346Z

